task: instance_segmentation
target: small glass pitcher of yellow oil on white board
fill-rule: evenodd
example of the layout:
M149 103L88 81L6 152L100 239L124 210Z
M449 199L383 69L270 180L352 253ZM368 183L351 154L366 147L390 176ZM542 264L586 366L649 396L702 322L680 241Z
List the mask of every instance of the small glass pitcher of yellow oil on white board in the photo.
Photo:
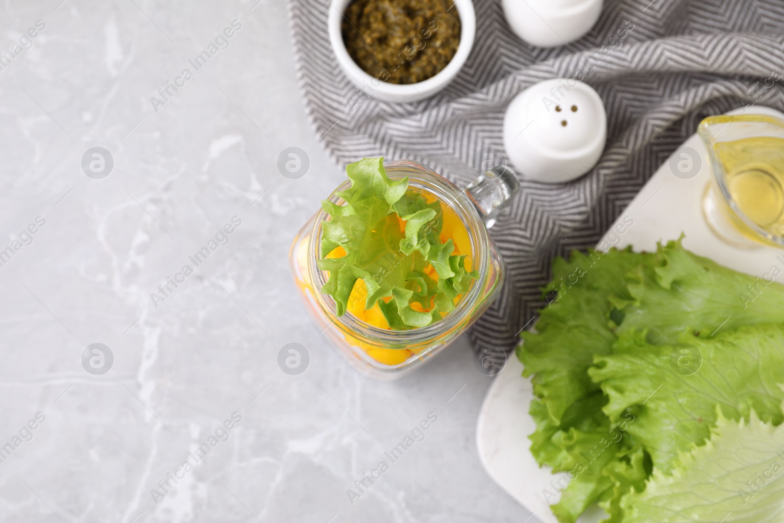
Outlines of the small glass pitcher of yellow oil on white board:
M713 169L702 201L713 233L744 249L784 247L784 120L710 116L697 133Z

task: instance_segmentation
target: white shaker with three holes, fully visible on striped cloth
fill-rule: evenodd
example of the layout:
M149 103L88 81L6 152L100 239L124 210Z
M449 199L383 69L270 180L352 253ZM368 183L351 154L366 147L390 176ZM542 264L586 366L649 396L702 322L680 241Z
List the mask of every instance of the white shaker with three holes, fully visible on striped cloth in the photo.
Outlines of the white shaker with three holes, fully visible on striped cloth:
M518 94L503 118L506 158L523 178L575 180L593 169L607 141L607 113L590 85L554 78Z

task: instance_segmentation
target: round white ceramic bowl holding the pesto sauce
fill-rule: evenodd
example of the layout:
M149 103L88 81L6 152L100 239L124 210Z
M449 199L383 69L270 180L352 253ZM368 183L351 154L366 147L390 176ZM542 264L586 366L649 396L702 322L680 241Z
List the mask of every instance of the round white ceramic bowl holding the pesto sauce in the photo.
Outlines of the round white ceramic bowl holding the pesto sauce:
M349 55L340 24L343 21L343 12L351 0L333 0L329 8L328 31L329 41L338 59L338 64L354 85L361 91L361 96L372 96L386 102L414 102L423 100L444 89L449 82L455 79L460 68L466 63L471 48L474 47L474 35L477 32L477 15L474 12L472 0L456 0L455 9L460 16L460 43L455 56L438 74L427 78L423 82L413 84L392 84L373 78L362 71ZM358 93L359 94L359 93Z

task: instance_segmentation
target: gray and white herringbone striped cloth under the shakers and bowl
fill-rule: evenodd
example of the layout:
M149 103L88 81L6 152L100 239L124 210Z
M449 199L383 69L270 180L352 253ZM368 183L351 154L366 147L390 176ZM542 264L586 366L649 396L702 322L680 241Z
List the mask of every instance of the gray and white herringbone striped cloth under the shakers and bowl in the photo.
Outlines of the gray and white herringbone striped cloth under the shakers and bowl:
M604 100L608 142L598 165L572 183L521 180L492 227L506 282L469 336L477 354L500 355L543 306L553 257L595 245L702 118L744 104L784 109L775 82L784 75L784 2L605 0L588 35L554 49L517 38L500 0L474 6L477 37L465 67L447 89L411 104L357 102L329 45L328 0L289 0L289 20L308 117L341 166L411 158L465 185L483 148L503 151L506 105L529 85L583 78Z

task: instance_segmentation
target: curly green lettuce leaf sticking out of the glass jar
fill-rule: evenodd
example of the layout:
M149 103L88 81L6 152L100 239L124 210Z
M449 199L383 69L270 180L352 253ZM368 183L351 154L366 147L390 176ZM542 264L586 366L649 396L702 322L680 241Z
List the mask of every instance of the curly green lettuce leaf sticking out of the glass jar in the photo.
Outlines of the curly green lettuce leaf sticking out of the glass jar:
M321 222L318 268L329 272L321 292L332 296L337 315L346 314L358 279L368 294L365 310L379 304L390 329L425 327L454 309L454 298L466 292L477 271L465 269L465 256L452 256L452 240L441 243L441 203L428 203L408 190L408 178L390 180L383 158L364 158L347 166L351 185L338 193L346 202L321 202L330 216ZM405 231L400 231L400 220ZM346 256L325 258L337 247ZM432 266L438 279L424 269ZM390 298L390 300L385 300ZM411 305L419 303L426 310ZM434 305L433 305L434 303Z

